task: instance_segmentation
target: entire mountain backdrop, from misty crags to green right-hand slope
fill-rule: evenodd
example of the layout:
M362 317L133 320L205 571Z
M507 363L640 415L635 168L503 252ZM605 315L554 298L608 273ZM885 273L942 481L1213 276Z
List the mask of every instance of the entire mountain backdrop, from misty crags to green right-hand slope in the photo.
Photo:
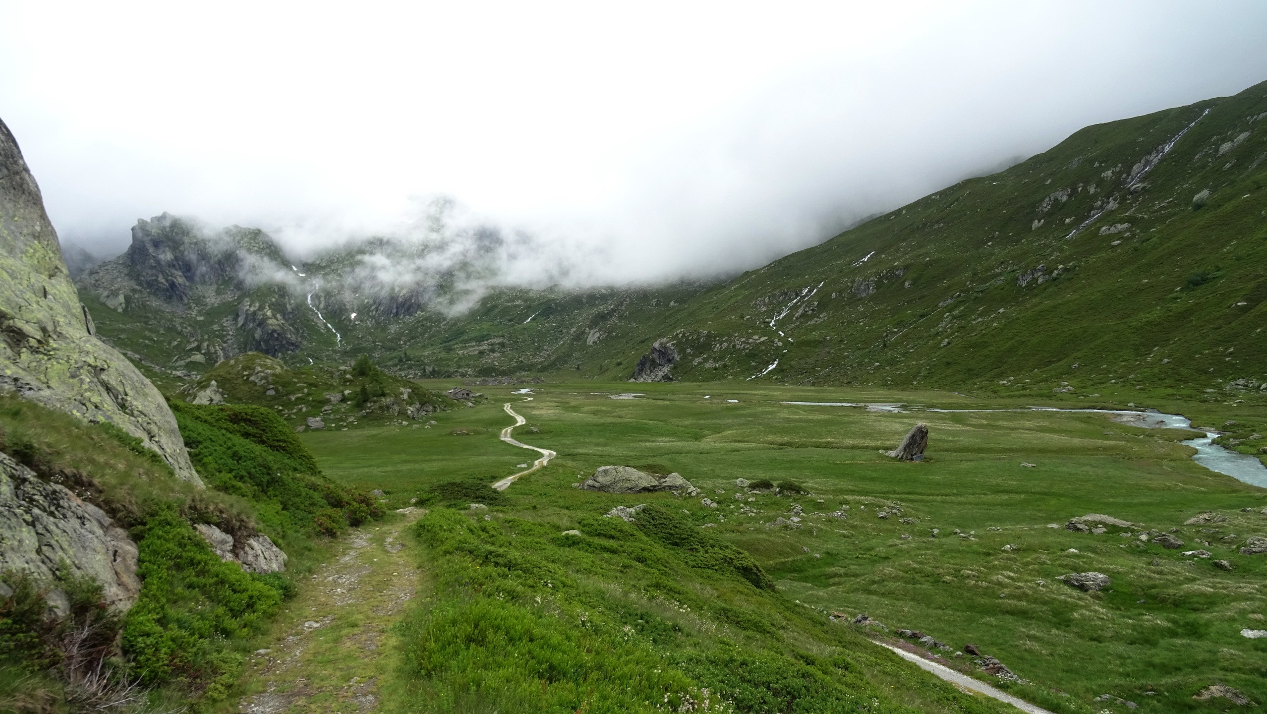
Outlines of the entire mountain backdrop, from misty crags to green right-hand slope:
M1087 127L712 285L493 288L455 312L474 299L462 285L489 269L478 250L389 284L367 256L424 263L440 249L364 243L291 266L255 232L272 247L253 255L274 273L234 282L223 255L177 250L189 245L174 235L180 221L134 236L129 254L80 283L114 308L99 318L103 334L194 373L258 350L303 363L367 353L416 377L628 379L651 360L640 379L1258 392L1264 159L1267 82ZM185 270L182 255L198 266ZM174 279L133 278L143 294L115 307L122 279L104 276L124 257Z

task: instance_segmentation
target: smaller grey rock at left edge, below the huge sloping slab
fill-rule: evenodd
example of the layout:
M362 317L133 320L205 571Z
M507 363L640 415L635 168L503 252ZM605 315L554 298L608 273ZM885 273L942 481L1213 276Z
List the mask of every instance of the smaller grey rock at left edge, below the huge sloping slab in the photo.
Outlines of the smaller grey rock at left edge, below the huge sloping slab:
M65 566L71 573L62 573ZM41 481L0 453L0 572L29 573L39 582L58 574L91 577L106 604L128 609L141 592L137 545L96 506L65 486ZM66 595L48 595L65 610Z

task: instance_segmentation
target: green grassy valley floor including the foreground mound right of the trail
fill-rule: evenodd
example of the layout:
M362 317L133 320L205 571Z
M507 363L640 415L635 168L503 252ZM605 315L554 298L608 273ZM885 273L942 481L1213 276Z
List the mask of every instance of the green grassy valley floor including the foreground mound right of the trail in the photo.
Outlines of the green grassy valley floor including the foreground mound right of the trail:
M594 711L620 710L612 692L639 687L663 690L680 708L682 700L673 698L696 691L689 696L698 699L697 690L710 682L713 696L721 694L736 710L837 710L835 704L808 699L796 705L797 696L745 704L751 692L736 681L726 684L722 673L758 671L761 665L726 665L721 653L731 652L727 648L780 653L778 662L799 663L812 668L813 677L837 684L850 673L863 675L841 684L841 691L855 691L849 689L855 685L874 689L858 684L863 680L891 681L887 692L863 698L875 700L874 710L965 710L965 701L982 710L993 706L949 685L916 686L927 677L859 638L896 639L898 628L950 644L953 649L943 654L964 670L972 668L968 658L952 652L977 644L1028 681L1002 686L1059 711L1126 710L1117 700L1093 700L1102 694L1138 703L1142 711L1223 710L1226 700L1192 699L1216 682L1267 701L1262 684L1267 642L1239 634L1243 628L1267 626L1262 588L1267 567L1263 555L1237 552L1245 536L1267 535L1267 515L1242 511L1261 511L1267 491L1194 463L1191 449L1178 443L1192 432L1144 430L1096 413L882 412L779 403L905 402L940 408L1036 403L945 392L584 383L544 384L535 388L532 401L521 401L509 393L512 387L483 389L490 401L437 415L431 429L365 426L300 435L326 474L350 486L381 488L393 507L426 498L440 483L492 483L530 463L532 453L498 440L511 422L500 408L507 401L517 402L516 410L528 420L516 430L518 439L559 451L546 469L514 483L503 497L489 492L489 511L433 507L421 519L418 538L433 591L400 625L407 643L426 643L407 647L412 654L403 656L402 681L413 685L398 690L402 710L564 710L578 701L589 701ZM645 394L611 398L627 391ZM1232 417L1257 422L1267 416L1267 410L1251 406L1204 406L1202 413L1194 413L1194 406L1187 405L1185 413L1197 424ZM930 429L925 462L898 463L879 453L893 448L917 421ZM704 507L699 497L670 493L617 496L573 487L604 464L678 472L720 506ZM740 501L736 478L791 481L810 493L742 493ZM625 524L595 519L613 506L636 503L660 507L645 520L674 516L673 523L635 521L613 530L613 524ZM803 509L802 528L767 528L777 517L789 517L793 503ZM745 506L748 514L741 512ZM846 517L829 515L845 506ZM891 515L878 517L881 510ZM1210 510L1223 520L1183 525ZM1086 514L1133 521L1139 525L1126 529L1133 533L1178 529L1175 535L1185 547L1167 550L1124 536L1123 529L1101 535L1063 529L1068 519ZM569 529L583 535L559 535ZM692 540L697 535L703 540ZM641 557L634 553L639 548L645 550ZM1199 548L1213 557L1181 554ZM735 576L745 572L740 561L748 557L774 591ZM710 569L694 562L699 558L730 564ZM1216 568L1215 559L1229 561L1234 569ZM664 572L665 563L672 573ZM1085 594L1057 580L1086 571L1109 574L1111 587ZM554 574L526 578L525 572ZM551 577L568 585L555 590L547 582ZM542 610L541 592L552 609ZM475 611L483 614L476 618ZM611 632L604 635L599 611L608 618L603 626L614 633L623 632L622 618L636 620L637 635L630 640L611 639ZM826 618L830 611L850 618L865 613L888 632L832 624ZM584 637L576 628L587 626L587 618L578 613L589 613L593 623ZM656 670L664 670L663 681L639 680L635 686L632 675L608 672L603 662L587 659L592 654L576 654L569 675L551 678L533 667L542 658L568 656L523 644L522 659L516 659L525 663L522 671L503 671L504 657L490 651L480 659L478 648L465 647L459 648L461 656L471 659L455 670L451 662L459 651L445 654L445 647L454 646L445 638L466 642L489 634L479 634L471 619L516 623L523 628L517 635L522 643L555 633L563 638L560 647L607 651L626 665L645 659L646 667L661 661L673 667ZM557 629L557 623L546 620L566 626ZM653 620L673 634L658 635ZM559 634L568 628L571 635ZM503 639L489 642L508 651L517 647L513 637L498 637ZM849 663L831 665L832 657ZM582 661L589 663L576 663ZM614 678L604 680L608 675ZM934 689L921 694L921 686ZM509 699L478 694L488 691ZM840 704L839 710L854 705Z

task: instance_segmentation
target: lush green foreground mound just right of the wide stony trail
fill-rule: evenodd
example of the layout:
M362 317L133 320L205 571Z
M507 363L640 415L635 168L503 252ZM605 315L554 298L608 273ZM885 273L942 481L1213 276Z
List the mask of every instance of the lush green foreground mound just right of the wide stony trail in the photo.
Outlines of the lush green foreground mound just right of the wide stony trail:
M1000 711L922 678L868 681L850 630L779 597L739 549L670 511L568 526L449 509L419 520L436 597L402 623L411 710ZM797 629L792 646L778 633ZM901 675L898 675L901 677ZM392 703L385 703L392 704ZM931 706L931 708L925 708Z

